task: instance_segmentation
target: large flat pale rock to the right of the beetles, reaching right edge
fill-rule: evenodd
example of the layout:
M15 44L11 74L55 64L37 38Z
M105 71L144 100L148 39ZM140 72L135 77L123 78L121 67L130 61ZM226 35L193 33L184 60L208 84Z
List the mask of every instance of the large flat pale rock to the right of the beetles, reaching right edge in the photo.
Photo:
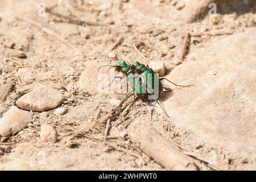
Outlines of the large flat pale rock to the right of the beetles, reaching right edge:
M247 28L197 49L167 76L177 84L195 86L171 86L173 92L160 98L177 125L195 131L204 143L254 159L255 39L256 28Z

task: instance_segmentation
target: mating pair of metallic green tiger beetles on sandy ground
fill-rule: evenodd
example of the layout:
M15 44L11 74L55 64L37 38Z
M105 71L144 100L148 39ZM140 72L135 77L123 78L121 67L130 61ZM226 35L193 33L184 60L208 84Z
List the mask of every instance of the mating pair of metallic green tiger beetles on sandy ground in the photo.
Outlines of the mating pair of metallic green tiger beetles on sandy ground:
M161 80L167 80L168 82L171 82L171 81L168 80L167 78L159 78L153 69L149 68L148 66L145 66L144 64L139 63L139 61L135 61L132 64L127 64L125 63L125 61L120 60L116 65L104 65L102 67L115 68L115 71L122 72L123 74L125 74L125 76L128 78L129 84L132 85L133 90L136 93L138 93L140 96L143 96L148 100L156 100L159 97L161 92L170 92L169 90L166 90L166 91L163 90L163 85ZM100 68L98 68L98 71L100 70ZM110 84L112 82L110 82ZM193 86L193 85L177 85L174 82L171 82L171 84L174 84L176 86L183 86L183 87ZM151 97L151 96L155 96L155 97Z

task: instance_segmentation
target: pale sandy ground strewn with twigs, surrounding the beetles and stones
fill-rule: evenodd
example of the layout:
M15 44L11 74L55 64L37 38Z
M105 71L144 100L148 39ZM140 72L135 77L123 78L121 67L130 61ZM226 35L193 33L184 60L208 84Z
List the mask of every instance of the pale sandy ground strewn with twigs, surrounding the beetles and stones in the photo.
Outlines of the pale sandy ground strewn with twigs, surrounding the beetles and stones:
M41 2L47 7L54 6L52 10L55 13L90 22L67 22L67 19L50 13L40 17ZM150 6L139 4L145 2ZM37 84L50 85L66 96L71 94L60 106L67 109L66 114L58 115L54 110L32 111L32 122L28 127L10 137L0 137L1 143L9 143L0 144L0 169L164 170L136 148L126 135L141 122L154 126L170 142L195 152L197 156L215 160L214 164L220 169L256 169L255 160L248 162L247 159L222 152L221 148L202 143L195 132L179 127L161 109L148 106L142 100L112 119L108 136L117 138L102 140L105 125L88 129L100 108L107 111L113 109L115 105L110 104L111 99L122 100L125 97L123 94L97 92L97 69L101 65L115 64L121 59L130 62L140 60L144 64L160 60L164 61L168 74L177 64L183 63L177 61L177 52L186 32L200 34L225 30L210 36L193 36L189 55L228 34L255 27L255 4L230 7L222 3L221 14L216 18L206 16L201 22L184 23L171 20L168 16L162 17L164 13L179 13L171 1L145 2L0 1L0 85L4 85L7 78L15 81L6 100L0 102L0 116ZM52 30L60 39L49 35L42 27ZM113 48L120 38L122 42ZM146 58L138 53L133 44ZM26 56L17 57L8 53L9 49L23 51ZM113 54L115 58L110 63ZM185 57L183 61L191 60ZM81 78L83 71L86 73L84 80ZM107 73L107 69L102 69L101 73ZM148 108L152 109L152 119ZM168 130L170 122L171 130ZM57 142L44 143L40 140L42 123L56 128L60 136ZM86 135L76 134L79 130L86 131ZM212 155L213 149L218 151L217 156ZM209 160L207 162L210 163ZM195 160L195 163L201 170L212 169L201 160Z

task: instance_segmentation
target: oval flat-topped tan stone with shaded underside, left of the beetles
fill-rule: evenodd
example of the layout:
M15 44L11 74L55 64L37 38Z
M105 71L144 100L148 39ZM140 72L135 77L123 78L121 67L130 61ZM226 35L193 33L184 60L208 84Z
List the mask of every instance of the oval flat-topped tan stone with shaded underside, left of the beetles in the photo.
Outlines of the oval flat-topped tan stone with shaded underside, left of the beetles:
M40 85L16 101L20 109L32 111L47 111L55 109L64 100L63 94L51 86Z

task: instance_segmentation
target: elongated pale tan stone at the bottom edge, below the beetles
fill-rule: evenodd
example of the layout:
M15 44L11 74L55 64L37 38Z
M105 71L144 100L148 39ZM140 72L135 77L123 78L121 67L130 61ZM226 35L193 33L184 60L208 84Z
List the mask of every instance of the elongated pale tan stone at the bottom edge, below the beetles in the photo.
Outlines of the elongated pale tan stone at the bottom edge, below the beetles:
M152 126L138 126L130 133L130 138L146 155L168 170L197 170L192 158L185 155Z

